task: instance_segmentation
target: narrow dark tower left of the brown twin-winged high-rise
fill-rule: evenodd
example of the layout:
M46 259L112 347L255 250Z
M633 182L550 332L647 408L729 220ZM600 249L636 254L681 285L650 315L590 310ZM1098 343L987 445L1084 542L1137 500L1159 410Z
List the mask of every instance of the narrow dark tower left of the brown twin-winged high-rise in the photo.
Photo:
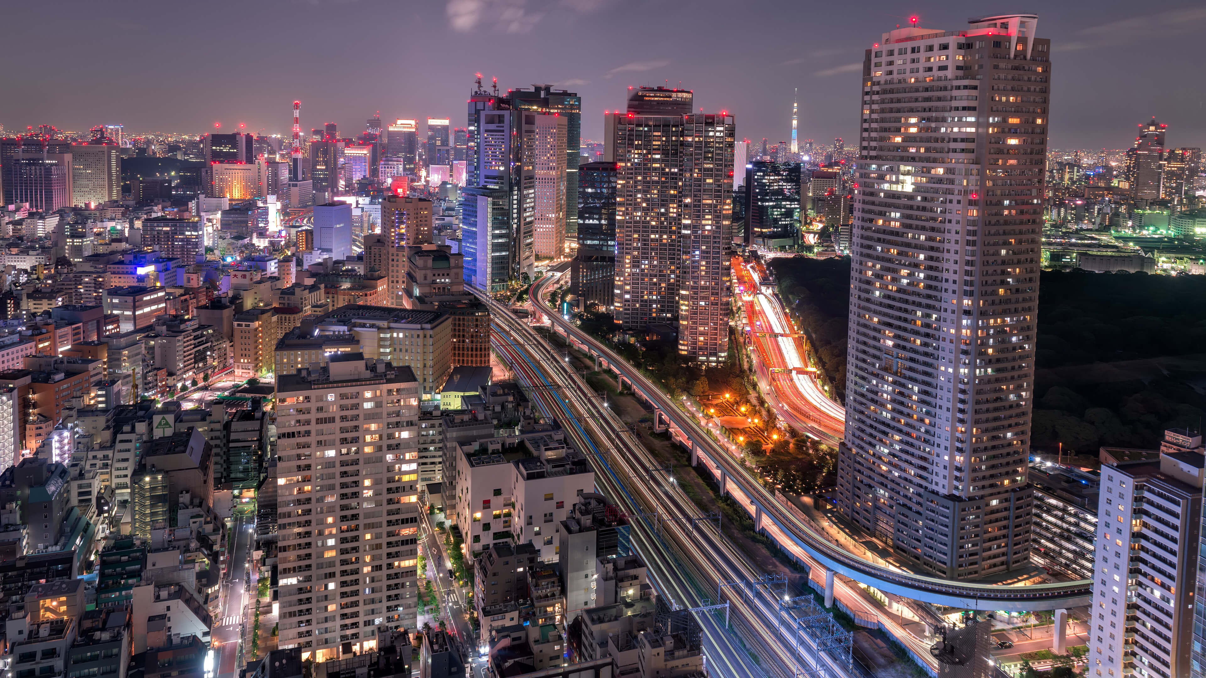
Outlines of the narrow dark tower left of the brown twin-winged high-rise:
M582 308L611 308L615 287L615 163L578 168L578 252L570 269L570 290Z

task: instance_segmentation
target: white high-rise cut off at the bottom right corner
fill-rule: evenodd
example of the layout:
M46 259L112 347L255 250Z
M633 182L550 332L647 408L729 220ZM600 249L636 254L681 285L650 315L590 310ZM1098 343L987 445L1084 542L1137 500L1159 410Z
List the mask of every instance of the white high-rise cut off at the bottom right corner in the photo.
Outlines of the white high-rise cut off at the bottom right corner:
M1201 442L1165 431L1159 452L1101 464L1087 676L1202 674L1192 666L1201 661Z

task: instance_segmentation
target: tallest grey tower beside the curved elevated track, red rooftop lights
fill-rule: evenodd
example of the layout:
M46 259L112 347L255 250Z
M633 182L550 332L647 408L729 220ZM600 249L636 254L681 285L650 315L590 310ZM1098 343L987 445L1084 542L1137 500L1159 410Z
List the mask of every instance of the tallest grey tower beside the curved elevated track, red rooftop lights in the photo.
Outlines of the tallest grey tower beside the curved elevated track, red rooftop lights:
M863 55L837 504L941 577L1029 563L1050 81L1036 22L901 28Z

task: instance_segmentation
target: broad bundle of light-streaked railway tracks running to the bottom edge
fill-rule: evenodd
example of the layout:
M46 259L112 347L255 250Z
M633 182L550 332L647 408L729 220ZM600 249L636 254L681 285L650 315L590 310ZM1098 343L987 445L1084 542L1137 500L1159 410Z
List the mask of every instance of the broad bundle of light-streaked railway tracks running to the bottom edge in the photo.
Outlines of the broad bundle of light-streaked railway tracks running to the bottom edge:
M627 425L605 408L540 335L505 308L490 303L494 347L534 394L540 409L557 419L575 445L591 457L596 485L632 516L634 543L661 595L689 608L721 598L730 603L732 629L725 626L722 618L696 613L709 670L718 676L753 678L791 676L797 668L822 667L830 676L848 676L845 660L818 651L814 638L777 629L781 594L772 592L768 586L718 590L721 583L753 581L763 573L712 524L692 525L683 520L695 518L696 507L673 481L663 477L650 479L648 469L658 464L632 437ZM633 481L637 478L643 480Z

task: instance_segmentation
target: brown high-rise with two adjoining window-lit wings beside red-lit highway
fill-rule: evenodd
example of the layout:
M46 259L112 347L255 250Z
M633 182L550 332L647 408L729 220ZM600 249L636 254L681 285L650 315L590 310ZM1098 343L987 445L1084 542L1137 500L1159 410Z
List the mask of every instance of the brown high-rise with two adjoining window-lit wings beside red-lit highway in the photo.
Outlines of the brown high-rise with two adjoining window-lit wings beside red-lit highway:
M691 106L690 90L643 87L605 119L617 165L615 321L678 317L679 353L716 364L728 351L733 117Z

